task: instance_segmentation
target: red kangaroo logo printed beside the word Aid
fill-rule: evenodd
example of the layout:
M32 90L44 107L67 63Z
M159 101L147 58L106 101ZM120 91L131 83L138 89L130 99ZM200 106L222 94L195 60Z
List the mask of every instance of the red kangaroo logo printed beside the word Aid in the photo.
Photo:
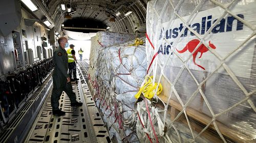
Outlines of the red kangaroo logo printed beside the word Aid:
M191 40L189 41L186 46L182 49L182 50L178 50L176 48L176 50L179 52L179 53L183 53L185 52L186 50L188 50L190 53L192 53L194 51L194 49L197 47L197 45L200 43L199 40L197 39L194 39L194 40ZM214 44L211 44L210 41L209 41L209 46L212 48L212 49L216 49L215 45ZM205 70L204 67L198 65L196 63L196 57L197 57L197 53L198 52L201 52L201 55L199 56L199 59L202 57L203 53L204 52L207 52L209 49L204 45L204 44L201 44L199 46L199 48L193 53L193 62L195 65L197 65L198 67L202 68L203 70Z

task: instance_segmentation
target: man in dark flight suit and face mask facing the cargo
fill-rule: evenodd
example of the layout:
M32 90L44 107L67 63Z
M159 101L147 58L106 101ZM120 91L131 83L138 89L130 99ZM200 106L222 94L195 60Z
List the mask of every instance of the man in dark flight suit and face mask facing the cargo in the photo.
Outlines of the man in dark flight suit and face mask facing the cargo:
M76 94L73 92L72 84L68 74L68 54L65 47L69 46L65 37L58 39L59 46L53 52L53 90L51 96L52 113L56 116L65 115L65 111L59 109L59 99L62 91L65 91L71 101L71 106L82 106L81 102L76 101Z

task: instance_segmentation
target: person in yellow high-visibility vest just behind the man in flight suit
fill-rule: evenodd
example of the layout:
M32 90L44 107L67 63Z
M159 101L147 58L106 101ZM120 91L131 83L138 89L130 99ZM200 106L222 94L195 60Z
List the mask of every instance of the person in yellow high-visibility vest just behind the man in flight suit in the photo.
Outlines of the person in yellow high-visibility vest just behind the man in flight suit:
M71 78L71 81L76 81L79 80L78 78L76 78L76 56L75 56L75 50L74 47L75 45L70 44L69 45L69 49L67 50L68 53L68 63L69 63L69 77L72 77L72 73L73 73L73 78Z

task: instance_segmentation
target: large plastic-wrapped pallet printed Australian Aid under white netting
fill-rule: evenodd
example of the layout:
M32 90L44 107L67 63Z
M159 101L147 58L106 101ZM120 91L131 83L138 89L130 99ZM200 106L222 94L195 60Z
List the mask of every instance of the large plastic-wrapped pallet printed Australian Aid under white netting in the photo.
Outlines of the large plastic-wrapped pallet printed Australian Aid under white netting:
M256 142L255 7L148 2L148 74L163 92L137 105L141 142Z

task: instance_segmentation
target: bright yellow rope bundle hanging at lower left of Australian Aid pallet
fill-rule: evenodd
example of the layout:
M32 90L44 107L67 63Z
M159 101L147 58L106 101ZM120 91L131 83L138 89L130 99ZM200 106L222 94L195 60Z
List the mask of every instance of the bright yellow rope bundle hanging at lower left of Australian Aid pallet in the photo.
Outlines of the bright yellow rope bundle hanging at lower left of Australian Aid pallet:
M139 92L135 95L136 99L140 97L142 92L144 94L144 97L147 99L151 99L155 95L155 90L157 88L158 83L155 82L155 84L153 85L153 82L152 82L153 76L146 76L146 78L148 78L148 80L145 81L145 84L143 85L143 87L141 87ZM159 83L159 86L157 89L157 95L159 95L162 92L162 90L163 90L162 84Z

